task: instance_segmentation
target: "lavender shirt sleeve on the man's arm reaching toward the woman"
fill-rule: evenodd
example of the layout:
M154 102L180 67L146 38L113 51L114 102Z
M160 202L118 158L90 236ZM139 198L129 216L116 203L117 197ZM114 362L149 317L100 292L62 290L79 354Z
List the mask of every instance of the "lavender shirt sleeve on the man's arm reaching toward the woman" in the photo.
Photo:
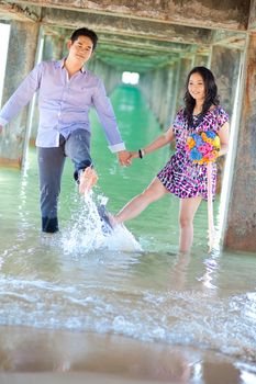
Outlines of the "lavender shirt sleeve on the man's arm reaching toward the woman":
M100 123L103 126L110 150L112 153L118 153L124 150L125 146L118 128L112 104L105 94L103 82L100 79L98 79L98 87L92 97L93 105Z

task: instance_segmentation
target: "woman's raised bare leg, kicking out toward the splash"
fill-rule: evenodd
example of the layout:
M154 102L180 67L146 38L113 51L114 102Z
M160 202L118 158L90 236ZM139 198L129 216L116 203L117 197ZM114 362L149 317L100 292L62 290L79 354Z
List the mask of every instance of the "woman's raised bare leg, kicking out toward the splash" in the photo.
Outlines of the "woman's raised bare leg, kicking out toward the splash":
M155 178L143 193L131 200L115 216L113 216L113 222L120 224L136 217L147 205L163 197L167 192L163 183Z

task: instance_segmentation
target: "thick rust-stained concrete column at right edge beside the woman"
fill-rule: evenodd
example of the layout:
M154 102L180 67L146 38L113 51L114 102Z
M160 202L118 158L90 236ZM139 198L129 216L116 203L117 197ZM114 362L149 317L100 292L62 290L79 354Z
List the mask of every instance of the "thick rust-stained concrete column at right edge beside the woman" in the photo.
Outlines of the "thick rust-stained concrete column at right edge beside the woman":
M224 247L256 251L256 32L248 35Z

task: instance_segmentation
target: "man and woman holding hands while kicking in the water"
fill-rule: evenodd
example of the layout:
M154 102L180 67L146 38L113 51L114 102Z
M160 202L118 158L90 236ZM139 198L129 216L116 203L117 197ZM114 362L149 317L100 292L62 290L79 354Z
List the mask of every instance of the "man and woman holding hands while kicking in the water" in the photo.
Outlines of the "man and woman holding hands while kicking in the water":
M218 156L229 147L229 115L220 105L213 74L205 67L193 68L187 78L185 108L178 111L174 124L159 137L135 151L125 150L114 112L102 81L84 66L98 42L97 34L86 27L76 30L67 43L68 55L62 60L42 61L23 80L0 111L0 132L12 117L38 93L40 125L36 137L42 230L58 230L57 202L65 158L75 166L74 177L82 194L97 182L90 157L89 110L93 106L103 126L109 148L118 155L121 166L135 158L176 143L175 154L140 195L131 200L116 215L111 226L136 217L148 204L166 193L180 199L180 251L187 252L193 241L193 217L202 200L208 200L207 165L193 161L186 150L192 134L213 132L220 138ZM216 165L212 165L212 195L216 184Z

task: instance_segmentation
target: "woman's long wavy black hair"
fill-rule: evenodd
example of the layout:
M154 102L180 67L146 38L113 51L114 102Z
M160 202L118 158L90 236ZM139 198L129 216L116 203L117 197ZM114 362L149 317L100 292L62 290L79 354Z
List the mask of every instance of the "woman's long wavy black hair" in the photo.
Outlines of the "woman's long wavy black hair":
M183 97L185 114L188 117L189 126L193 124L193 109L196 105L196 100L191 97L191 94L188 91L190 76L193 74L201 75L205 88L205 99L200 115L203 116L211 108L211 105L218 105L220 103L215 79L211 70L205 67L194 67L193 69L191 69L187 78L186 93Z

